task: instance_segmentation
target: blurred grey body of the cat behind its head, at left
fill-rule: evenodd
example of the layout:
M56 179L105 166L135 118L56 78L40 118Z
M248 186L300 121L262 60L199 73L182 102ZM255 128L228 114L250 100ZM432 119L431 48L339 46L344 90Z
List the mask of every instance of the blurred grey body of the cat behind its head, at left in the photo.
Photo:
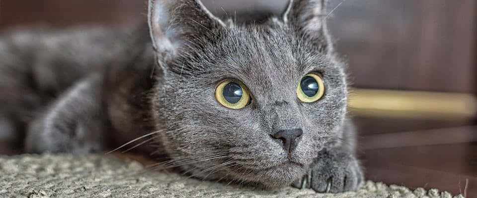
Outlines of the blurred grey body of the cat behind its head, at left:
M0 60L0 80L4 81L0 85L3 93L0 98L0 119L4 123L1 133L4 137L10 137L2 139L4 146L11 145L12 150L17 149L13 147L23 145L29 130L32 133L28 133L25 144L27 151L98 152L104 150L105 146L112 147L114 142L127 142L135 135L153 128L153 124L144 126L148 125L144 124L148 122L148 116L143 114L149 114L149 111L146 110L148 107L141 106L149 103L143 102L155 81L151 77L154 54L147 25L123 29L78 27L67 30L15 30L2 37L0 46L1 55L5 57ZM76 92L81 90L81 86L92 86L94 88L90 90L95 93ZM87 105L93 105L89 109L96 112L85 112L89 110L85 108ZM73 110L77 107L79 109ZM108 109L114 109L114 112ZM65 120L64 116L75 121L82 117L87 120L79 123L56 122ZM94 139L112 131L115 131L115 135L94 146L79 146L83 150L77 150L70 145L41 142L49 138L38 137L42 134L33 131L41 129L33 128L44 128L46 126L40 125L46 123L55 123L54 128L58 131L78 128L96 131L98 133L79 133L97 135ZM135 125L134 130L132 125ZM85 128L88 126L89 129ZM119 131L123 131L126 137L122 137ZM90 141L92 137L71 135L70 138L76 139L79 144L94 142Z

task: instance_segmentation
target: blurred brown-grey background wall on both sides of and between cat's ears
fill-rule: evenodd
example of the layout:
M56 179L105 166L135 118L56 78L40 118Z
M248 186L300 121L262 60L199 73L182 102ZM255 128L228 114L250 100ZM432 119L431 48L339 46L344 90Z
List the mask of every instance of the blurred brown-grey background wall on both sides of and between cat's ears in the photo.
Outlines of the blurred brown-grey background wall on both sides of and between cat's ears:
M212 12L287 0L203 0ZM330 0L328 20L355 87L476 92L476 0ZM336 5L338 5L336 7ZM224 8L224 9L222 9ZM230 12L230 11L229 11ZM146 20L145 0L1 0L0 29ZM227 13L233 15L233 13Z

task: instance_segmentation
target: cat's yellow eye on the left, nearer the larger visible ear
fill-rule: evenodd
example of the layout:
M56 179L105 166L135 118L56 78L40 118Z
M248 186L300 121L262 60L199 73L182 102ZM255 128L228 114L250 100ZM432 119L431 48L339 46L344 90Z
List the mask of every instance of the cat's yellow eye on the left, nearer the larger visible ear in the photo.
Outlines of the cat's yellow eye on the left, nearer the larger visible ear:
M224 81L215 90L215 98L227 108L240 109L250 103L250 93L243 83Z

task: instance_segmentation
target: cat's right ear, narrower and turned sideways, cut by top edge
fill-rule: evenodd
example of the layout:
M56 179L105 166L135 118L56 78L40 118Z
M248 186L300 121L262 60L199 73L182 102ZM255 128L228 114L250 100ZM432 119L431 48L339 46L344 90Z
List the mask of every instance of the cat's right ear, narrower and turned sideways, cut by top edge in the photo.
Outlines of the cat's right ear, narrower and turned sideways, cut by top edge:
M328 0L290 0L283 13L283 21L298 28L303 34L326 48L329 44L326 29Z

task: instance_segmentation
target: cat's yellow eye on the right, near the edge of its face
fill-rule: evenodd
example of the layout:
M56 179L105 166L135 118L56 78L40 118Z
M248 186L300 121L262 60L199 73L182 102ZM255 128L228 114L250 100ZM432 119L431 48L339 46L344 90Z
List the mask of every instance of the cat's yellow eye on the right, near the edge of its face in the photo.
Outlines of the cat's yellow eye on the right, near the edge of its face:
M309 73L300 81L297 87L297 95L303 102L314 102L321 99L324 94L324 84L320 76Z

